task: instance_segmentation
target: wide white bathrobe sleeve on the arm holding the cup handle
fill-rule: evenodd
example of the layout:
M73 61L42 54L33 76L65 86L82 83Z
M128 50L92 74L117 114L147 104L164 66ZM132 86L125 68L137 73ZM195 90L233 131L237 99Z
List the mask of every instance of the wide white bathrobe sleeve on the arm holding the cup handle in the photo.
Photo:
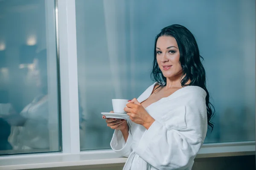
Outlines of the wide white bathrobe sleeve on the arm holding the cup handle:
M134 149L135 153L159 170L189 167L207 131L206 108L194 109L199 113L192 110L182 106L154 121Z

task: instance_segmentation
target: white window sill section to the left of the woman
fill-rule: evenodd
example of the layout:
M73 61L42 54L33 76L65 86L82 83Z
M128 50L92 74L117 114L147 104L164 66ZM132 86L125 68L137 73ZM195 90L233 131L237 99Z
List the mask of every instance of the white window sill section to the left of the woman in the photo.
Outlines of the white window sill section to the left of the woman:
M21 170L52 167L74 167L96 165L114 166L125 163L127 158L118 156L112 150L84 151L80 154L41 153L0 157L0 170ZM101 167L101 166L97 166Z

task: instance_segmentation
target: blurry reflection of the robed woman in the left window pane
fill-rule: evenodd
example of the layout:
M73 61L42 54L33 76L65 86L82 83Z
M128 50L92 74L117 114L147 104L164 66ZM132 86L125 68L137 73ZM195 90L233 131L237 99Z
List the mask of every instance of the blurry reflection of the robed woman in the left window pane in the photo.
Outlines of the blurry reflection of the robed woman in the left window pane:
M40 51L33 64L33 77L41 90L40 95L29 103L20 114L6 117L12 126L20 126L10 136L14 149L49 149L49 103L47 85L47 51Z

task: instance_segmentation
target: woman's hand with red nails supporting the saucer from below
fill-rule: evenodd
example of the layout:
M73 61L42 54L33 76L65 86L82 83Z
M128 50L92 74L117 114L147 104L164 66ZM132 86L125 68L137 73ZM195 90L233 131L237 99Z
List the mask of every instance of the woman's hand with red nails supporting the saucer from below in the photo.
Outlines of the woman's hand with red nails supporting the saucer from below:
M110 113L114 113L111 111ZM102 119L106 119L106 116L102 116ZM113 119L113 118L108 118L106 119L107 126L110 127L111 129L115 130L128 130L128 124L125 119Z

